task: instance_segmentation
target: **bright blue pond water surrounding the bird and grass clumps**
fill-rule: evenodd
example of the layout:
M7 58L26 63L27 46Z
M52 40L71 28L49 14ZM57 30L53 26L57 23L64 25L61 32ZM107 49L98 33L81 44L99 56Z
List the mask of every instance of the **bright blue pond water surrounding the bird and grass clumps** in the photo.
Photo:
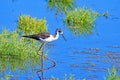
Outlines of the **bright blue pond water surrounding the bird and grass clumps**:
M61 16L55 16L55 11L47 8L45 0L4 0L0 3L0 32L4 27L10 31L17 28L20 13L32 17L46 18L48 29L54 33L61 27L67 41L62 37L50 44L55 45L49 50L48 56L56 60L56 67L45 71L45 77L51 76L62 80L65 75L71 74L77 79L104 80L108 68L120 67L120 1L119 0L78 0L78 7L87 7L94 11L111 15L107 19L97 18L97 31L88 36L74 36L63 24ZM45 66L51 63L46 61ZM34 71L33 71L34 70ZM1 70L0 70L1 71ZM12 72L9 68L0 73L0 79L11 75L11 80L39 80L36 69Z

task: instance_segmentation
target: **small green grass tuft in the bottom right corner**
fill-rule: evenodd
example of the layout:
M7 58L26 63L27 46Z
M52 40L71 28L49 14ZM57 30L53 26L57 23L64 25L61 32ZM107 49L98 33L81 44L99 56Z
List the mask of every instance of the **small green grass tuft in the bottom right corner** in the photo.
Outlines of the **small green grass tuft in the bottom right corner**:
M120 76L117 75L115 67L112 68L112 71L108 70L108 77L105 80L120 80Z

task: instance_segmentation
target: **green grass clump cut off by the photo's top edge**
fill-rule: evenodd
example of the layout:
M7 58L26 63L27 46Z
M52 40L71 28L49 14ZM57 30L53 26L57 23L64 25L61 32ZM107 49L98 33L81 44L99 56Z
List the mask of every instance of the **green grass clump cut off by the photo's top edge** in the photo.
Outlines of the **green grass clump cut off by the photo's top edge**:
M74 3L74 0L49 0L48 7L56 10L56 13L67 13L74 8Z

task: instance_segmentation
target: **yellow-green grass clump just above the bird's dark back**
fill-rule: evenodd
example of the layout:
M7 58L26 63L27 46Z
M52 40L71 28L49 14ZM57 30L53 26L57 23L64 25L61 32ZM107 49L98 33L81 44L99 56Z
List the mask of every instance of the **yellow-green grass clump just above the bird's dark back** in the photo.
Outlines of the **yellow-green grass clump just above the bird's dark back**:
M35 34L47 31L46 20L32 18L31 16L20 16L18 20L18 33Z

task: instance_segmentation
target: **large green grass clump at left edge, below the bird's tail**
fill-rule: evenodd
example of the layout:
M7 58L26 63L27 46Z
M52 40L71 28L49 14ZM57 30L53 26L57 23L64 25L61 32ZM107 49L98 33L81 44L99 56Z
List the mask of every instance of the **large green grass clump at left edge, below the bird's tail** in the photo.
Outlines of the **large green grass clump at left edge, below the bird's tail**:
M34 47L34 48L33 48ZM29 43L17 32L6 29L0 34L0 67L4 72L9 66L12 71L34 67L40 63L37 42Z

